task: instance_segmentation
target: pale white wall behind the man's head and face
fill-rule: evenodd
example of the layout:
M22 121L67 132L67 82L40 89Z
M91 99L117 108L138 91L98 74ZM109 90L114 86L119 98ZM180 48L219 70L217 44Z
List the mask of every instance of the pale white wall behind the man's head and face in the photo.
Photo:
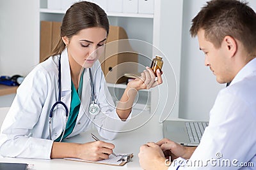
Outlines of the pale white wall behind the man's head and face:
M182 55L180 66L179 117L191 120L209 120L209 111L220 89L225 85L216 82L216 77L204 66L204 53L200 52L197 38L191 38L191 20L205 0L184 0L182 22ZM250 0L255 10L256 1Z

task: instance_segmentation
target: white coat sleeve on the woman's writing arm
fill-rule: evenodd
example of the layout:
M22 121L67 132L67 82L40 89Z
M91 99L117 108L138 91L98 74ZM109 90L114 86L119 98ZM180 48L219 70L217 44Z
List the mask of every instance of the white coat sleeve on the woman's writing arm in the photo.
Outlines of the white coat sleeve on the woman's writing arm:
M41 71L29 73L20 85L1 127L2 156L50 159L52 141L31 137L46 96L44 89L47 80Z

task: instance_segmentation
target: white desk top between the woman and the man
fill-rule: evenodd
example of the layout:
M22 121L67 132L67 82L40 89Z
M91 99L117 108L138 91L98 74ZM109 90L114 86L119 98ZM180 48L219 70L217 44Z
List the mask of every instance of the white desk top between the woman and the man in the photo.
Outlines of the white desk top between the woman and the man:
M3 122L3 119L6 115L8 108L0 108L0 123ZM142 114L142 113L141 113ZM0 158L0 162L24 162L27 164L34 164L33 169L61 169L61 170L70 170L70 169L141 169L138 153L140 151L140 146L147 143L148 141L159 141L163 138L162 124L158 122L158 116L152 117L147 124L141 126L140 128L130 131L130 132L120 132L116 136L116 139L111 142L115 145L114 152L116 153L134 153L133 162L128 162L124 166L106 166L99 164L92 164L86 162L75 162L70 160L63 159L20 159L20 158ZM93 141L90 133L97 135L99 134L95 130L84 132L78 136L67 139L66 141L72 142L76 141L77 143L86 143L88 141ZM102 139L102 138L100 138ZM107 140L104 140L107 141Z

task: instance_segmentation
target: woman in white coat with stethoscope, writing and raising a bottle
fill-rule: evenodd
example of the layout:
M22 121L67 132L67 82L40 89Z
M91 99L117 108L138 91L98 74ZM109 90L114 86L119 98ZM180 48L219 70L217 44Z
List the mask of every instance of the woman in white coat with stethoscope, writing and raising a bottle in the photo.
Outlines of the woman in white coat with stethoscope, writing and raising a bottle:
M73 4L63 17L61 39L51 57L26 76L1 128L4 157L108 159L115 147L104 141L61 143L92 122L103 138L115 138L129 118L138 90L162 83L150 68L128 83L117 107L106 87L97 50L106 43L109 22L99 6ZM81 71L82 70L82 71ZM131 116L130 116L131 117Z

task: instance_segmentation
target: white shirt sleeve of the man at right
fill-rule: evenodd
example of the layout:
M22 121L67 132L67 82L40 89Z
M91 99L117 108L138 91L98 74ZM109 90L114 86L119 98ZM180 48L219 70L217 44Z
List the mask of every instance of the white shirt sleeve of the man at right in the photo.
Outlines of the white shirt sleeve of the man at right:
M255 128L252 105L234 94L221 92L200 145L179 170L241 168L241 163L250 162L255 155Z

